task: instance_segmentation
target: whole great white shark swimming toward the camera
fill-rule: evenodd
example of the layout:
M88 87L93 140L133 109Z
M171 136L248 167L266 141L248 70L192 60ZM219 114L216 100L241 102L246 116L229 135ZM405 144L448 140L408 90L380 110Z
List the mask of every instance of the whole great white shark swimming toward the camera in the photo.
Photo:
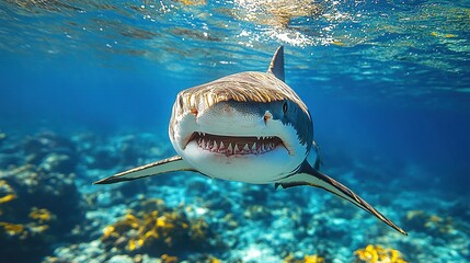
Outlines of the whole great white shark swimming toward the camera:
M266 72L234 73L179 92L169 137L176 156L94 184L191 171L211 179L274 184L276 188L316 186L408 235L352 190L320 172L312 117L285 82L283 46L274 53Z

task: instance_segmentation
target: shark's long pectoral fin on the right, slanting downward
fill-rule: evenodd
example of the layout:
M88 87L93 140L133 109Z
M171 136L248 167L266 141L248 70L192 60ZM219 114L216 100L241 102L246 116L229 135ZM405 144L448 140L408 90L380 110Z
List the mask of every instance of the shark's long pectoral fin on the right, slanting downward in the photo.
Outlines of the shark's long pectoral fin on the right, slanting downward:
M376 208L369 205L365 199L360 198L353 191L351 191L349 188L347 188L336 180L317 171L308 162L305 162L302 164L298 173L295 173L288 178L285 178L278 181L276 183L276 186L278 185L283 186L284 188L299 186L299 185L310 185L310 186L324 188L330 193L333 193L344 199L349 201L351 203L355 204L359 208L372 214L374 216L376 216L377 218L379 218L385 224L389 225L400 233L408 236L408 233L403 229L401 229L400 227L394 225L390 219L388 219L382 214L380 214L380 211L378 211Z

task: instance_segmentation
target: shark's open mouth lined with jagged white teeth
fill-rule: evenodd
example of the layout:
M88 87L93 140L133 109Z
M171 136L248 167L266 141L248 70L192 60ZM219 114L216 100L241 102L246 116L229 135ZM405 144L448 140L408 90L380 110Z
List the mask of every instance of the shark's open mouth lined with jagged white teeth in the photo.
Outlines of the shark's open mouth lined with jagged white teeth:
M232 155L262 155L284 146L283 140L275 136L221 136L206 133L193 133L190 141L196 141L198 147L222 153Z

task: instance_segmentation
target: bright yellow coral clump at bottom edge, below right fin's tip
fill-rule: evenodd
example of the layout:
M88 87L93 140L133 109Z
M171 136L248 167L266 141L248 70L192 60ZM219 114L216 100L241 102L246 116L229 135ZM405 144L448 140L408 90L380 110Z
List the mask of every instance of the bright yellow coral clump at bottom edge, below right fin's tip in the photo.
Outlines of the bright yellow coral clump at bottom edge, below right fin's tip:
M401 256L400 251L387 249L380 245L368 244L365 249L358 249L354 252L357 255L356 262L366 263L406 263Z

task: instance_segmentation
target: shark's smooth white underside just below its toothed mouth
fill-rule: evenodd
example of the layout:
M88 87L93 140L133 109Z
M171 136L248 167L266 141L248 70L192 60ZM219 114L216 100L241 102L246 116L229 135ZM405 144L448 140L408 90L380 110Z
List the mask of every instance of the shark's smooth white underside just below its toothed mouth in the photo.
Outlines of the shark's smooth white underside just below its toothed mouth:
M298 167L298 161L279 147L262 155L226 156L202 149L191 141L181 155L191 165L210 178L254 184L276 182Z

